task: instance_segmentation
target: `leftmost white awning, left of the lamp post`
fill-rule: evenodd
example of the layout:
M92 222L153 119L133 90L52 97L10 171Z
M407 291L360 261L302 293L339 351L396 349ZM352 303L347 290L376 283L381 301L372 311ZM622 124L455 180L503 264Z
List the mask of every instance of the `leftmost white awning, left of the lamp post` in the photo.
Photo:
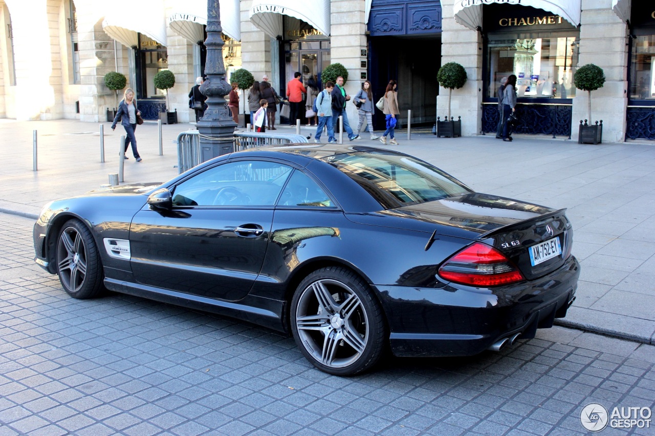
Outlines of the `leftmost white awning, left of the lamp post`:
M129 12L126 12L129 11ZM111 38L126 47L139 46L137 33L166 45L166 18L164 1L146 2L115 0L102 22L102 29Z

